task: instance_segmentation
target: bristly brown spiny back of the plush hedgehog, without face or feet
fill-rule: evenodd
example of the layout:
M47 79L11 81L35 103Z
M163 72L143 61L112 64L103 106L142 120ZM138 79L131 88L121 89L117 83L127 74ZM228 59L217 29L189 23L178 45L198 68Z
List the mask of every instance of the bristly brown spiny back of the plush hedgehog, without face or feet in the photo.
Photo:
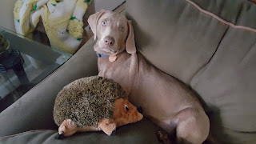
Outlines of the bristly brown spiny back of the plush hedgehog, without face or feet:
M58 93L54 121L58 126L65 119L78 126L97 126L102 118L113 118L114 101L118 98L127 98L118 83L98 76L80 78Z

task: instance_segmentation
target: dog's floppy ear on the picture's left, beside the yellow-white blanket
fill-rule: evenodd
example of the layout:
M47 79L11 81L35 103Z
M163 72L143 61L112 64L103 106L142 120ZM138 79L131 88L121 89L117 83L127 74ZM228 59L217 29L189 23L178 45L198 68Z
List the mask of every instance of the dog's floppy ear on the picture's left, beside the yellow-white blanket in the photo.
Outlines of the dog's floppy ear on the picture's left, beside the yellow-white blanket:
M90 25L90 29L93 31L94 33L94 40L96 40L96 28L97 28L97 24L98 24L98 20L99 18L102 17L102 15L105 13L105 10L100 10L99 12L90 15L90 17L88 18L88 23Z

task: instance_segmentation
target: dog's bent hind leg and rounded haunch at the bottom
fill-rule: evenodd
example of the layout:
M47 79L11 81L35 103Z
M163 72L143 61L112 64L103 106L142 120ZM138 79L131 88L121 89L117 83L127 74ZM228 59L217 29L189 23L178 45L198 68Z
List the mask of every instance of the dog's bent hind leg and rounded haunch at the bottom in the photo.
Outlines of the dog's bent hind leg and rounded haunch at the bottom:
M180 111L176 135L178 143L199 144L206 140L210 131L210 121L203 110L186 108Z

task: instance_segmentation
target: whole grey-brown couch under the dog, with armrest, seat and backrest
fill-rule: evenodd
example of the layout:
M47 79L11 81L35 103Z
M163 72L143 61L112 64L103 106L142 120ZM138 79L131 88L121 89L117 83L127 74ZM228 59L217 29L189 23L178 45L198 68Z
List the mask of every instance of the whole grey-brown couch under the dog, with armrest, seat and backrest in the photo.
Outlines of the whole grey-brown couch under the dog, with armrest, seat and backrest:
M256 143L255 14L256 6L244 0L126 1L138 51L194 89L219 143ZM158 127L146 119L118 128L111 137L92 132L54 139L54 99L66 84L98 73L93 46L90 39L0 114L0 143L158 143ZM28 130L36 131L22 133Z

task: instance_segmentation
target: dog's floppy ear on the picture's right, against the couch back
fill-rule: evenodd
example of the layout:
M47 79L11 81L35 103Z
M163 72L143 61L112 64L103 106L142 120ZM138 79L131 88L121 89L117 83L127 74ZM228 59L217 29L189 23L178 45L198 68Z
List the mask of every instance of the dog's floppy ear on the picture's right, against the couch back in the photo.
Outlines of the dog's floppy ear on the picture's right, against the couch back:
M136 53L136 47L134 42L134 27L130 20L127 21L128 23L128 37L126 39L126 51L129 54Z

